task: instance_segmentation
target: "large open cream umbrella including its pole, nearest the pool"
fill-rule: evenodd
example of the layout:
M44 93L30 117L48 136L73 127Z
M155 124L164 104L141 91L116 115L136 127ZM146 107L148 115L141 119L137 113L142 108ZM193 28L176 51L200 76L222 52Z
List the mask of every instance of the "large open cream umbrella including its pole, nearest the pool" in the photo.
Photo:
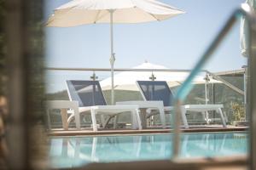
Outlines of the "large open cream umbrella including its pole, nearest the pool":
M113 63L115 60L113 53L113 23L160 21L183 13L180 9L155 0L73 0L55 9L55 13L49 17L47 26L68 27L110 23L111 97L113 105Z

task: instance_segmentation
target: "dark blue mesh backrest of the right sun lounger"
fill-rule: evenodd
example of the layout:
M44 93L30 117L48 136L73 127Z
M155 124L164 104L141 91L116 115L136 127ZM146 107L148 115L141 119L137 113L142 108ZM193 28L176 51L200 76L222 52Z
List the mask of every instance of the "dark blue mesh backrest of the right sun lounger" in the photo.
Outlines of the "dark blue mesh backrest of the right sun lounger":
M164 106L172 105L172 91L165 81L137 81L144 100L162 100Z

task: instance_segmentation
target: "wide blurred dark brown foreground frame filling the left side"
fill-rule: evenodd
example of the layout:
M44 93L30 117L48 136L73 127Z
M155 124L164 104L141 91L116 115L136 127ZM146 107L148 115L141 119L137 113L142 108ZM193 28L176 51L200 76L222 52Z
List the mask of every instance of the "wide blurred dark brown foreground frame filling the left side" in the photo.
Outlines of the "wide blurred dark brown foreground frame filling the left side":
M6 33L6 94L9 100L6 164L9 169L38 169L41 163L36 162L46 160L47 156L47 150L39 148L47 140L44 137L42 105L44 5L42 0L3 1L5 20L1 22Z

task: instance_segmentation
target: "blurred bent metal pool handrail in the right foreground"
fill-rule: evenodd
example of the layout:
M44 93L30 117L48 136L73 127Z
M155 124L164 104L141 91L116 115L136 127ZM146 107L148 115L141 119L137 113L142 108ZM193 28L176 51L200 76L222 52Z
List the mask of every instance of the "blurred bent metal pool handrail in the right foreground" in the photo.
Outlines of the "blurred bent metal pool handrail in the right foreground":
M202 66L207 63L207 60L211 58L213 52L219 47L220 42L224 40L224 37L229 33L232 26L240 19L241 16L244 16L248 21L248 47L249 47L249 57L247 61L248 69L248 80L247 80L247 108L248 113L250 114L250 168L256 169L256 134L253 133L256 131L256 49L252 48L256 44L256 14L253 12L253 9L250 8L247 4L242 4L241 8L237 9L234 14L231 14L230 19L226 22L225 26L221 31L219 31L217 37L213 40L210 46L207 48L204 54L202 54L201 59L195 65L195 68L189 74L189 77L183 82L183 85L177 91L175 98L175 117L174 117L174 139L173 139L173 160L178 159L179 156L179 142L180 142L180 127L179 127L179 115L181 113L181 105L183 100L189 94L189 91L192 89L192 81L197 73L201 70ZM228 84L226 84L228 85Z

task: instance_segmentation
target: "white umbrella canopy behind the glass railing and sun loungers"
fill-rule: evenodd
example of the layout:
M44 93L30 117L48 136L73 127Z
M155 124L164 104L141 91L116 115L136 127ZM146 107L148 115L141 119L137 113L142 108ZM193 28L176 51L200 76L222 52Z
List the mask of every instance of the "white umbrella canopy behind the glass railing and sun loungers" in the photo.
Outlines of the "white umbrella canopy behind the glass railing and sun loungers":
M168 70L167 67L163 65L154 65L148 62L143 63L142 65L137 65L133 67L133 69L147 69L152 71L125 71L120 72L114 75L114 89L117 90L131 90L138 91L136 81L148 81L148 80L156 80L156 81L166 81L169 87L175 87L180 85L188 76L189 72L184 71L155 71L155 70ZM154 75L154 76L152 76ZM153 78L154 77L154 78ZM195 83L206 83L204 76L197 76L194 80ZM210 78L210 83L218 82ZM209 83L208 82L208 83ZM108 77L101 82L102 90L111 89L111 77Z

